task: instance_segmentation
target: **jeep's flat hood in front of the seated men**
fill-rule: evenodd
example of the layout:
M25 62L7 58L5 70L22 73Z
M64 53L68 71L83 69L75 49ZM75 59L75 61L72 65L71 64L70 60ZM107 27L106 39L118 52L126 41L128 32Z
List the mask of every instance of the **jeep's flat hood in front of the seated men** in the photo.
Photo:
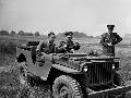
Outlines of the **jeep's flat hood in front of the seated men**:
M112 61L114 59L119 59L119 58L114 58L114 57L88 57L85 53L67 53L67 54L61 54L59 59L55 60L55 63L64 65L71 69L75 69L78 71L82 70L83 65L86 63L93 63L93 62L105 62L105 61Z

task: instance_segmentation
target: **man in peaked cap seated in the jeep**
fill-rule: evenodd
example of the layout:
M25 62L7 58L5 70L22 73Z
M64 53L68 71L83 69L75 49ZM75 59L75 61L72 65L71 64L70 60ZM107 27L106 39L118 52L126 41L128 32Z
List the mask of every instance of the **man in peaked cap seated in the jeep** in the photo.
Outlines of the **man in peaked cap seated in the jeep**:
M72 35L73 35L72 32L64 33L66 41L60 42L60 46L58 47L57 52L59 52L59 53L66 53L66 52L73 53L74 50L80 49L80 45L78 42L73 42Z

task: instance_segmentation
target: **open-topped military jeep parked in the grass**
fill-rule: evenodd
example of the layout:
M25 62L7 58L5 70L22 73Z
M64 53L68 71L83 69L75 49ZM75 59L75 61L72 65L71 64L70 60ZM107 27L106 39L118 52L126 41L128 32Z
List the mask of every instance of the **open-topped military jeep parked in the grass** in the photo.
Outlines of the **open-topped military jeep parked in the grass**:
M45 54L44 61L36 61L38 44L27 41L16 48L23 85L47 82L53 98L122 98L131 89L117 73L119 58L51 53Z

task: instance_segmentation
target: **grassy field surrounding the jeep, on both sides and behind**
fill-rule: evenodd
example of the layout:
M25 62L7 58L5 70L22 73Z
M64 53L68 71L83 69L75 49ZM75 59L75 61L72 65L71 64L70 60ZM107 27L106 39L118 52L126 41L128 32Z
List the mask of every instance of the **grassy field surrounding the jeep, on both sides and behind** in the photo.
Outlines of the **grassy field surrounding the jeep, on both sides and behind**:
M27 40L40 39L43 37L0 37L0 98L50 98L48 85L23 87L19 83L19 71L15 63L16 46ZM57 39L57 41L59 40ZM98 44L99 39L75 39L75 41L82 46L79 52L87 53L92 49L102 50L102 46ZM120 73L126 81L131 79L131 46L129 41L122 41L116 47L116 56L121 60ZM127 95L127 98L131 98L131 96Z

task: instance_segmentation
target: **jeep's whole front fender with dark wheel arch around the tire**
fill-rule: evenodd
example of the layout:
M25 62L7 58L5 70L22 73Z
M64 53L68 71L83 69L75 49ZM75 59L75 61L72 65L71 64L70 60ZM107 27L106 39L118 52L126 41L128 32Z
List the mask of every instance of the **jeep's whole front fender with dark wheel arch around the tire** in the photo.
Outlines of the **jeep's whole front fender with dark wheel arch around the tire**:
M69 75L75 78L81 84L82 89L86 91L88 78L84 72L61 64L52 64L51 70L52 72L48 78L48 82L50 82L50 84L53 84L53 81L60 75Z

